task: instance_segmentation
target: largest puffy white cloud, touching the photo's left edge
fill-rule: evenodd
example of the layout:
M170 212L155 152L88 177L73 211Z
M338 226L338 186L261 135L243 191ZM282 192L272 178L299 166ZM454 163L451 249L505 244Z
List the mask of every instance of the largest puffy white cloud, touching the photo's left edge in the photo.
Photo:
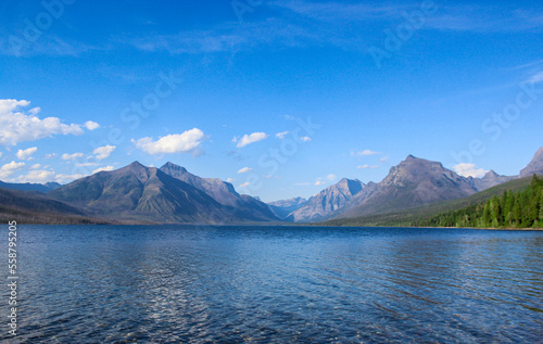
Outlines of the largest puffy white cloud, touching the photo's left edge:
M83 135L79 125L66 125L58 117L38 118L39 107L26 113L20 111L30 102L26 100L0 99L0 145L15 145L18 142L36 141L53 135Z

